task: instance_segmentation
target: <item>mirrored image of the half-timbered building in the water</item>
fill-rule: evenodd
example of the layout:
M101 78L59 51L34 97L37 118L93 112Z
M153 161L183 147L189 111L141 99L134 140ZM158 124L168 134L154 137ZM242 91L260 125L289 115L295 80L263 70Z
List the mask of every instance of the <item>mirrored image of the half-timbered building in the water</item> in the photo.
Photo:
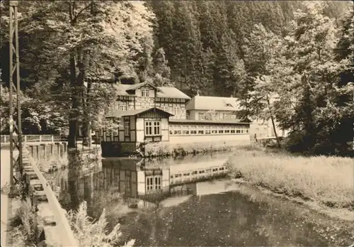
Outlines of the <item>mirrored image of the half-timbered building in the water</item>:
M114 199L121 195L156 203L167 197L195 194L195 182L227 174L225 162L226 159L221 159L162 167L147 160L105 158L100 171L81 173L76 178L75 190L77 197L86 201L96 196ZM68 172L64 170L61 174L60 187L62 192L68 192L65 176Z

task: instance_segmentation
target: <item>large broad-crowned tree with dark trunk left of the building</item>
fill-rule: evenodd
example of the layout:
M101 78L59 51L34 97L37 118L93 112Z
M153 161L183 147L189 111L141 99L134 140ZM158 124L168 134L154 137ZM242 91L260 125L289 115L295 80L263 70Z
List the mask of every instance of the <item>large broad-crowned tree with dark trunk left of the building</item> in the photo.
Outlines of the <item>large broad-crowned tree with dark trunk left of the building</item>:
M93 84L113 79L118 67L131 67L126 65L142 52L140 41L151 35L154 16L141 3L127 1L32 1L25 14L28 34L50 31L46 44L69 75L69 147L73 148L79 123L84 122L90 133L91 116L103 109L91 107L90 99L105 95L98 92L101 86L94 90ZM101 106L106 105L103 99L109 97L101 98Z

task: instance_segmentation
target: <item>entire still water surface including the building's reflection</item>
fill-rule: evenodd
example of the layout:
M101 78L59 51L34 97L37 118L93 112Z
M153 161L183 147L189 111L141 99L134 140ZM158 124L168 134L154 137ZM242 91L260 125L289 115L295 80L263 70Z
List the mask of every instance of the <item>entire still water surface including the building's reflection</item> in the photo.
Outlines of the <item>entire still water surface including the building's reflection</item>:
M61 171L69 208L81 199L93 218L107 210L137 246L343 246L351 224L225 180L227 154L179 160L106 158L91 171ZM204 180L204 182L202 182ZM67 185L66 182L67 181ZM66 189L67 188L67 189ZM74 193L76 193L74 195ZM65 193L63 193L64 195Z

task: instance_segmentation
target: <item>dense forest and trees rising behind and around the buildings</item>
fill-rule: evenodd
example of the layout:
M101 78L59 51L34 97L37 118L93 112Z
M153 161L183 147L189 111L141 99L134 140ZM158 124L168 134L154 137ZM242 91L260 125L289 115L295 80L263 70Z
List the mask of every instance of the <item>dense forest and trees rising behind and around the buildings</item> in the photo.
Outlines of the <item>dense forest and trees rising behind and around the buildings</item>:
M100 126L107 82L174 85L241 101L240 119L276 119L285 146L353 146L352 1L20 1L23 132ZM1 30L8 30L1 6ZM1 32L6 131L8 32ZM4 120L4 121L3 121ZM74 144L72 144L74 145Z

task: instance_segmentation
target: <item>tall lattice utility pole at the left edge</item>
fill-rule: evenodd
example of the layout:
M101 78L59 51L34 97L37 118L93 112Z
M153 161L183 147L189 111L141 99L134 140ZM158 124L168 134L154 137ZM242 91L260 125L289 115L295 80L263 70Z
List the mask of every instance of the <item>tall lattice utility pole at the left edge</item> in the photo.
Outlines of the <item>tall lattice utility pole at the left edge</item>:
M14 164L18 164L21 175L23 174L23 164L22 164L22 126L21 126L21 102L20 102L20 57L18 50L18 1L9 1L9 14L10 21L8 23L9 30L9 63L10 63L10 73L9 73L9 126L10 126L10 172L11 172L11 186L13 183L13 168ZM13 45L15 43L15 45ZM15 56L15 61L13 61L13 56ZM16 83L13 82L13 77L16 77ZM13 102L13 92L16 92L16 104ZM13 111L17 106L17 125L13 121ZM13 138L13 131L17 133L18 140ZM14 148L18 149L18 159L15 160L15 155L13 154Z

